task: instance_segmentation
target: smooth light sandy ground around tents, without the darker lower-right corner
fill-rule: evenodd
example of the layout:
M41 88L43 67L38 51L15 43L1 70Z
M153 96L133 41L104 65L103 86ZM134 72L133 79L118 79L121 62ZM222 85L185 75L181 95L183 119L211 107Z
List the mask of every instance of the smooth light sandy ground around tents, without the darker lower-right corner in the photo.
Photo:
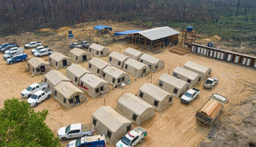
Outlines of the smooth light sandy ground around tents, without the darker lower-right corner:
M67 45L66 45L67 46ZM121 53L131 46L126 42L117 42L112 44L113 51ZM111 46L109 46L111 48ZM66 51L64 51L66 52ZM148 54L150 52L144 51ZM30 50L26 50L26 53L32 57ZM10 97L20 97L20 91L26 86L34 82L40 82L44 75L38 75L31 77L29 72L24 72L24 65L26 63L15 63L13 65L7 65L2 59L3 54L0 55L0 83L2 88L0 91L0 107L4 99ZM245 83L256 83L256 70L245 66L231 64L219 60L213 60L198 55L186 54L179 56L177 54L170 53L167 49L164 49L160 54L154 54L153 56L164 60L164 69L153 73L152 83L156 84L158 77L162 73L170 74L176 66L184 65L188 60L193 61L204 66L212 68L212 76L219 78L219 83L213 89L203 89L202 84L196 85L196 88L202 89L200 97L190 105L180 103L179 99L175 98L174 103L166 107L160 112L155 111L155 116L143 122L140 126L148 131L148 136L145 138L144 143L137 145L137 147L156 147L156 146L197 146L200 141L207 135L210 129L202 127L195 122L195 113L208 99L212 93L220 93L230 99L230 103L225 107L232 107L237 103L240 103L246 96L252 94L250 87ZM47 60L48 57L44 57ZM107 57L102 58L107 61ZM87 63L83 64L87 68ZM66 69L60 69L65 74ZM134 77L130 75L132 83L127 85L125 89L114 89L105 97L106 105L110 105L116 109L116 101L123 93L138 93L138 88L145 82L150 83L150 75L142 78L138 78L136 81ZM21 98L24 99L24 98ZM104 99L89 98L88 103L82 103L77 107L70 109L64 108L60 103L54 99L48 99L45 102L34 108L35 111L41 111L42 109L48 109L49 115L46 119L46 124L52 129L54 134L60 127L66 126L70 123L90 123L92 113L99 107L104 105ZM226 109L224 108L224 113ZM225 119L220 115L218 119ZM225 125L225 124L224 124ZM136 127L136 125L134 125ZM62 145L67 145L69 141L61 141ZM113 147L114 145L110 145Z

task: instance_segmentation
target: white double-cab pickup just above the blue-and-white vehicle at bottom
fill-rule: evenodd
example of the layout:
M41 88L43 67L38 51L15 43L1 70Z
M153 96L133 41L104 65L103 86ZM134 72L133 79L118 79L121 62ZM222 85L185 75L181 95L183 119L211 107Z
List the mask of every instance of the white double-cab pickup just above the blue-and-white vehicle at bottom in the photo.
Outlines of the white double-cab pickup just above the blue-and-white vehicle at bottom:
M94 134L93 130L94 130L94 126L90 123L89 124L76 123L76 124L68 125L67 127L60 128L58 130L57 135L62 141L66 141L67 139L91 136Z

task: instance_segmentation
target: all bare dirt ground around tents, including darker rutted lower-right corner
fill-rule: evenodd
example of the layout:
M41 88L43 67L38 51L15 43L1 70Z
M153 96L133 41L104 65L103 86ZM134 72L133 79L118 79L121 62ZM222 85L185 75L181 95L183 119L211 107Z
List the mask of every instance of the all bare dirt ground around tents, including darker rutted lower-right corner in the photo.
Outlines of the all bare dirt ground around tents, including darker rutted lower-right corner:
M129 27L131 28L133 25L134 24ZM121 27L122 29L125 29L126 25L120 24L120 26L123 27ZM136 29L139 29L139 27ZM12 36L12 38L13 37L14 36ZM28 40L41 40L43 38L35 38L32 33L22 34L22 37L24 38L16 39L16 42L22 46L28 42ZM44 42L47 43L45 45L49 44L54 51L62 52L66 55L71 50L68 43L80 39L62 39L61 36L57 34L45 38ZM54 40L54 38L57 39ZM11 37L5 38L5 40L7 39L11 39ZM126 48L135 48L136 46L127 44L125 41L119 41L109 45L108 47L110 48L110 51L113 49L113 51L123 53ZM31 49L26 50L25 52L30 56L30 58L32 58L30 50ZM214 60L212 58L206 58L196 54L180 56L169 52L168 48L162 49L161 51L162 52L159 54L152 54L151 52L144 50L142 51L164 60L164 68L152 74L153 84L157 83L158 77L163 73L168 74L170 69L171 74L172 70L176 66L183 66L187 61L192 61L211 68L212 76L218 77L219 82L213 89L203 89L202 83L197 84L196 88L201 89L201 94L198 99L193 100L190 105L180 103L180 100L175 98L174 103L162 111L155 111L154 117L141 123L140 126L148 131L148 136L144 139L142 144L139 144L136 147L195 147L198 145L211 145L212 147L248 146L248 141L256 140L256 69L220 60ZM0 90L0 108L3 107L4 99L11 97L17 97L21 100L25 99L20 96L20 92L28 85L40 82L44 79L44 75L32 77L29 72L24 72L26 62L8 65L3 60L2 56L3 54L0 54L0 83L2 85ZM48 60L48 57L43 57L43 59ZM102 59L107 61L108 57L104 57ZM87 68L88 64L84 63L83 66L84 68ZM66 74L66 69L60 69L60 72ZM126 85L124 89L117 88L110 91L110 93L105 97L106 105L116 109L117 100L123 93L137 94L138 89L144 83L150 83L151 77L148 75L135 80L134 76L130 75L130 79L131 83ZM196 111L204 105L212 93L220 93L228 97L230 102L224 106L222 113L218 116L216 122L214 122L212 129L208 129L198 125L195 121L194 115ZM58 103L58 101L51 98L40 103L33 109L35 109L35 111L42 111L43 109L49 110L46 124L50 129L52 129L54 134L57 135L57 131L60 127L71 123L90 123L92 113L102 105L104 105L103 98L95 99L89 97L89 101L87 103L84 102L79 106L66 109ZM134 124L134 128L135 127L137 126ZM229 133L232 138L225 136L226 133ZM236 133L236 135L233 135L234 133ZM66 146L69 141L60 141L60 143ZM233 141L234 144L225 144L227 141ZM114 145L109 146L114 147Z

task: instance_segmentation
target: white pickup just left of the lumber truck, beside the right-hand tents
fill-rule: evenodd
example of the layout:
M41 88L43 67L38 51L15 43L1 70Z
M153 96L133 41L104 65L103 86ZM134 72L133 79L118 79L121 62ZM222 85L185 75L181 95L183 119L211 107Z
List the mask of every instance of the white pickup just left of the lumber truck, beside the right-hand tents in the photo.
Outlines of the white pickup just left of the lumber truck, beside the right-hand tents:
M196 89L196 88L189 89L184 95L182 95L182 97L180 98L180 101L186 104L190 104L190 102L193 99L196 99L200 93L201 91L199 89Z

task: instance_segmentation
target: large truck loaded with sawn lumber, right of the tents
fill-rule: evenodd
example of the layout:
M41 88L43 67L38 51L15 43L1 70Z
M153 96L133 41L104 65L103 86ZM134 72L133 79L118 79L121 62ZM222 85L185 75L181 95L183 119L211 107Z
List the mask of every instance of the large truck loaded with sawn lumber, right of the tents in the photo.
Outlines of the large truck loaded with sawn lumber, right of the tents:
M211 127L214 120L222 111L225 103L228 103L228 99L226 97L218 93L213 93L209 100L198 111L196 111L196 122L204 125L205 127Z

